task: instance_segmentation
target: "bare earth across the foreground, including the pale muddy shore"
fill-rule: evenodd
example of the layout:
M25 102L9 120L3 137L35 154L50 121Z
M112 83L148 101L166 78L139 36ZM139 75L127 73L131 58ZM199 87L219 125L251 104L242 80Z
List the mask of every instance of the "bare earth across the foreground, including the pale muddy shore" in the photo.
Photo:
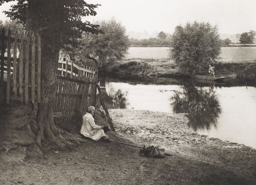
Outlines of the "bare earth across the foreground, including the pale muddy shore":
M43 160L13 158L18 151L10 150L0 153L0 185L256 185L255 149L195 134L184 114L122 109L110 115L113 140L160 145L173 155L146 158L138 148L91 140L73 151L48 149Z

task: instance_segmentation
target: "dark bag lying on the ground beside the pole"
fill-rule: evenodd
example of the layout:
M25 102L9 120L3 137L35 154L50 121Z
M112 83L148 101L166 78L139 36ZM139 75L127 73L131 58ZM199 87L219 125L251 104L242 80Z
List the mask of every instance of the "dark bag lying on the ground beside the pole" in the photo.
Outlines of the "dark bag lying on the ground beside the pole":
M140 149L139 154L141 156L147 156L147 157L156 157L156 158L164 158L164 148L159 148L150 146L150 147L145 147L143 149Z

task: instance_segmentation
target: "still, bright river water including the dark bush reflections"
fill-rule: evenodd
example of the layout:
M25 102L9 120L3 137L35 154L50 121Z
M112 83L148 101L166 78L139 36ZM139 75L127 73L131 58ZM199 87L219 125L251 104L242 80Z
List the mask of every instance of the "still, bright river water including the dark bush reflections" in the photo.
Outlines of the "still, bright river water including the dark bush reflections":
M101 81L109 109L188 113L193 131L256 148L256 87ZM157 118L156 118L157 119Z

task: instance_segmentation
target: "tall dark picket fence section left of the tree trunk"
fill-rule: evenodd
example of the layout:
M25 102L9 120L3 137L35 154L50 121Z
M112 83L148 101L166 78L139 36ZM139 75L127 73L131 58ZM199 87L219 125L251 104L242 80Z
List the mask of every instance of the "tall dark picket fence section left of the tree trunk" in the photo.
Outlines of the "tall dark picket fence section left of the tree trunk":
M29 38L24 32L12 34L8 29L6 36L2 28L0 40L0 104L9 104L10 99L21 103L40 102L40 35Z

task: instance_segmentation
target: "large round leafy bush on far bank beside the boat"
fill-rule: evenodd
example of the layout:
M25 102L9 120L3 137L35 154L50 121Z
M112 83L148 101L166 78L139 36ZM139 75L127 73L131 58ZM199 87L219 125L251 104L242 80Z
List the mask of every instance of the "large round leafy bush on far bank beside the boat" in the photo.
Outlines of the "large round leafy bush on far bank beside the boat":
M202 72L221 52L221 39L216 26L209 23L187 23L177 26L171 39L171 58L186 74Z

